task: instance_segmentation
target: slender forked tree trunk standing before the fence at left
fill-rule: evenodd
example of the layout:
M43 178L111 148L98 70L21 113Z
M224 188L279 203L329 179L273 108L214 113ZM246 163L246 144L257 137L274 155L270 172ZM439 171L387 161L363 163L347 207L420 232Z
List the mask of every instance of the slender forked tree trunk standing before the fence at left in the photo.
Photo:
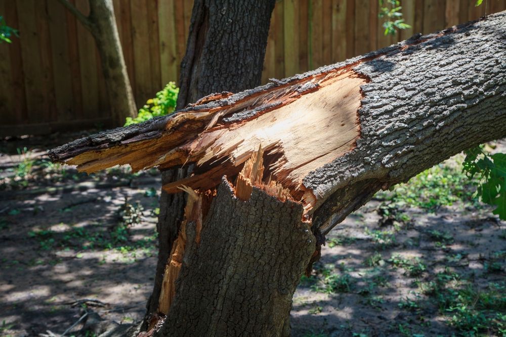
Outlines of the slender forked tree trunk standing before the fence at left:
M68 0L59 0L90 30L100 55L114 125L137 116L134 94L126 72L123 50L116 27L112 0L90 0L90 15L84 16Z

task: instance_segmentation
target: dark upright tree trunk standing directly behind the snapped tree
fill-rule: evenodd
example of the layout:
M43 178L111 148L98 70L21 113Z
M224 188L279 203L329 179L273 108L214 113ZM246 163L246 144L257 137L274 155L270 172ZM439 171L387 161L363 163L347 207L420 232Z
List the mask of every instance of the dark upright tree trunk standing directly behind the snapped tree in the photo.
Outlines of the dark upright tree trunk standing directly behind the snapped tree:
M195 0L186 54L181 63L177 109L223 91L239 92L260 85L275 0ZM192 165L162 172L162 183L181 180ZM184 194L160 198L159 251L147 315L156 313L165 265L183 220Z

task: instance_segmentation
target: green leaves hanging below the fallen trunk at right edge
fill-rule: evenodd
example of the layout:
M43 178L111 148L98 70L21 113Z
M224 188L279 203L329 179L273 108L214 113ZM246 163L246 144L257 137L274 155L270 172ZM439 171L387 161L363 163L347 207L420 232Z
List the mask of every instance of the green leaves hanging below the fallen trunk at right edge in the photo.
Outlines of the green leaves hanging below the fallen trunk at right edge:
M495 206L493 214L506 220L506 154L490 155L483 146L465 151L463 171L473 178L479 178L477 195L488 205Z

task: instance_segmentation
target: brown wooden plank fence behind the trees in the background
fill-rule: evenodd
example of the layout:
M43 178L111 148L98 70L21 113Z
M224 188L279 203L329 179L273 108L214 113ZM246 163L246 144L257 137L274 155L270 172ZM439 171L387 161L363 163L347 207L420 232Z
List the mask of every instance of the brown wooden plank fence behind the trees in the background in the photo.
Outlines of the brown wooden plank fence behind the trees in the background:
M70 0L84 14L88 0ZM412 28L385 36L376 0L278 0L262 80L283 78L488 13L506 0L403 0ZM138 106L178 81L192 0L114 0L123 53ZM485 6L485 3L486 6ZM91 34L57 0L0 0L20 38L0 44L0 136L48 133L110 121Z

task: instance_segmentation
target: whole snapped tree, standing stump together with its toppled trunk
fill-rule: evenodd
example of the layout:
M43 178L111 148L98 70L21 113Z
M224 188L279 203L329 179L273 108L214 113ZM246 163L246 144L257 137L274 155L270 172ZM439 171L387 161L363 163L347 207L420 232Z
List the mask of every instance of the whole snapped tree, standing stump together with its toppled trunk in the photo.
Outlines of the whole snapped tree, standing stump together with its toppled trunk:
M255 89L210 95L173 116L81 138L50 156L86 172L194 163L190 177L164 186L187 186L206 202L186 213L186 248L165 280L175 295L164 323L152 326L161 326L158 335L204 328L235 335L268 317L266 329L284 334L287 320L276 315L287 315L293 275L318 256L320 232L377 190L506 136L505 46L502 12Z

